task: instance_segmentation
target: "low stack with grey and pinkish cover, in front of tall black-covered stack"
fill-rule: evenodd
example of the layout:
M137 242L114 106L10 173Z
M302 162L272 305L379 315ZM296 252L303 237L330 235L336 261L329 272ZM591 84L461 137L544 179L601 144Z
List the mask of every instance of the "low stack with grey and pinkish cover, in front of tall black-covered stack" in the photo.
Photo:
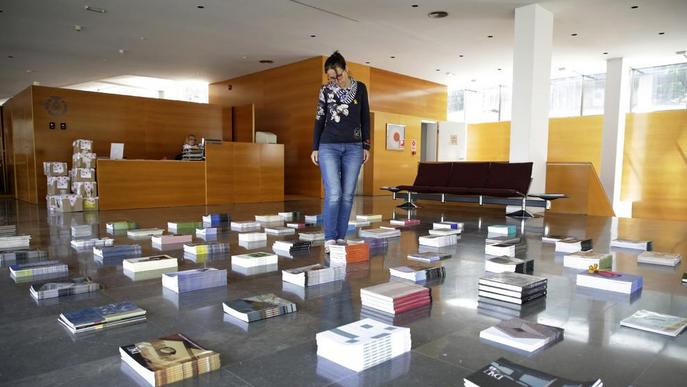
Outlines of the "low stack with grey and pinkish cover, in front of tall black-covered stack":
M514 318L487 328L480 339L518 351L534 352L563 339L563 329Z

